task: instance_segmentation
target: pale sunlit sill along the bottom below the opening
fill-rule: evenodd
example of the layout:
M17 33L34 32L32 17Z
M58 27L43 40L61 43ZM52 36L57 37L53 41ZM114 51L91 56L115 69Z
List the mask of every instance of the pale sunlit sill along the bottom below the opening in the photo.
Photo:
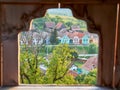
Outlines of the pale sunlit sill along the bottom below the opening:
M14 87L0 87L0 90L113 90L98 86L42 86L42 85L20 85Z

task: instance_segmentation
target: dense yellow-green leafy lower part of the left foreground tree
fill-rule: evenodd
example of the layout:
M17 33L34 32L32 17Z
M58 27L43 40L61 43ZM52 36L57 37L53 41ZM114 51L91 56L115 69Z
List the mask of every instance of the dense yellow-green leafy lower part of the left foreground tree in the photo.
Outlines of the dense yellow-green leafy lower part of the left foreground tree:
M20 55L20 60L21 82L29 84L40 83L43 74L40 71L39 65L44 59L28 51L24 51Z

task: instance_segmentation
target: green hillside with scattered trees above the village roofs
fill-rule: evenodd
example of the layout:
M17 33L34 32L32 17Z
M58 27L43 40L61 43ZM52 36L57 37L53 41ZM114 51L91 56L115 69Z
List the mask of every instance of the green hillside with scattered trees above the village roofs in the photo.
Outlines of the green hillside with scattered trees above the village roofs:
M55 24L62 22L67 28L70 28L72 25L77 25L80 26L81 30L87 30L86 22L83 20L78 20L72 16L54 15L48 13L46 13L46 15L42 18L34 19L33 25L37 30L44 30L45 22L55 22Z

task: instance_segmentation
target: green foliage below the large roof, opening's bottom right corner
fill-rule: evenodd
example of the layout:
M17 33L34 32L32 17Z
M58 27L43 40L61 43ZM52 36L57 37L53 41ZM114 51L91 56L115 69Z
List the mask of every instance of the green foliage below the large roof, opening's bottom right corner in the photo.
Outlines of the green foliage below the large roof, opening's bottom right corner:
M81 74L75 78L79 84L92 84L95 85L97 81L97 69L92 70L88 74Z

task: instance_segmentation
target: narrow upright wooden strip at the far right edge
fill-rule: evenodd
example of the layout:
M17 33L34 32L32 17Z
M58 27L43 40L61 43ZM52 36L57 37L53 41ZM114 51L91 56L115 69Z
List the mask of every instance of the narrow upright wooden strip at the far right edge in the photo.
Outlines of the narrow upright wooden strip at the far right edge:
M114 82L113 86L120 87L120 6L118 4L118 17L116 20L116 55L114 62Z

